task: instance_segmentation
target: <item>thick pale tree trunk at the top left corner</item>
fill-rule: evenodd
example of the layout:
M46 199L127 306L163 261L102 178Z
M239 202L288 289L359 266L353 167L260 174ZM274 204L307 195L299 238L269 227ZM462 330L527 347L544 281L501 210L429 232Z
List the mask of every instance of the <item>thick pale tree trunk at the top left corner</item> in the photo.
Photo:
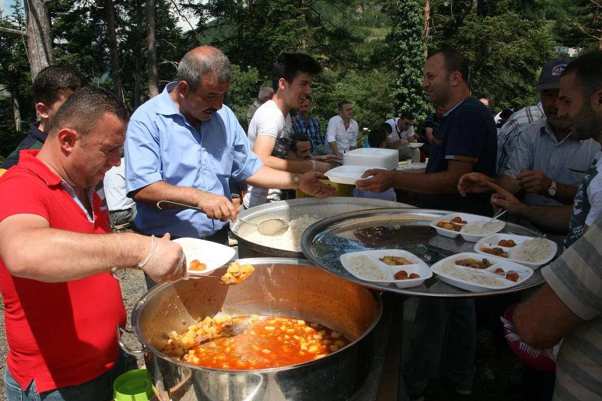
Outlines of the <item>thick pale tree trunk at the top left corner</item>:
M27 16L27 57L31 79L52 64L50 18L44 0L25 0Z

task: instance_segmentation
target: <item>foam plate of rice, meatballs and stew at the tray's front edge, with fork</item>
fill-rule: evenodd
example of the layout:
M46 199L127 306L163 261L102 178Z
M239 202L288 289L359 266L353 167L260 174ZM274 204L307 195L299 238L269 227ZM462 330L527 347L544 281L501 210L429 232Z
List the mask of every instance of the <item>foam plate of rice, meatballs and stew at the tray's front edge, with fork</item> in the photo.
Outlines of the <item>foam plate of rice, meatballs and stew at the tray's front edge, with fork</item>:
M486 269L462 268L456 265L459 260L465 259L486 259L492 263ZM439 260L430 269L438 275L439 280L463 290L471 292L483 292L490 290L504 290L514 286L518 286L528 280L533 274L533 269L524 265L511 262L504 258L498 258L491 255L483 258L482 254L473 252L463 252L457 255L448 256L445 259ZM504 278L503 275L492 274L495 269L502 269L504 272L518 272L518 280L510 281Z

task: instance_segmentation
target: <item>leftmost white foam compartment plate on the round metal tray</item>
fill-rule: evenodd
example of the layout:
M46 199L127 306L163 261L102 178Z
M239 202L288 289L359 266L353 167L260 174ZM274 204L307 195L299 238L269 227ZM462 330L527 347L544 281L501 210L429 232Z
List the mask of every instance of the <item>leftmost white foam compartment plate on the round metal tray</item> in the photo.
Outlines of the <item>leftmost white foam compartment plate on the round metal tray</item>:
M386 280L372 280L370 278L364 277L361 274L358 274L355 270L353 270L351 261L358 257L365 255L370 259L370 261L376 266L377 269L383 272L386 276ZM385 256L397 256L403 257L406 260L412 262L412 265L398 265L398 266L390 266L386 263L380 262L379 258ZM403 249L374 249L373 251L359 251L359 252L350 252L341 255L340 257L341 265L351 274L353 277L359 278L359 280L369 281L371 283L380 283L380 284L394 284L398 288L408 288L408 287L416 287L420 286L424 283L424 280L427 280L432 277L433 272L429 269L426 263L423 262L419 257L415 256L413 253L404 251ZM415 273L420 275L420 278L408 278L407 280L395 280L394 276L397 272L405 270L408 272L408 275L411 273Z

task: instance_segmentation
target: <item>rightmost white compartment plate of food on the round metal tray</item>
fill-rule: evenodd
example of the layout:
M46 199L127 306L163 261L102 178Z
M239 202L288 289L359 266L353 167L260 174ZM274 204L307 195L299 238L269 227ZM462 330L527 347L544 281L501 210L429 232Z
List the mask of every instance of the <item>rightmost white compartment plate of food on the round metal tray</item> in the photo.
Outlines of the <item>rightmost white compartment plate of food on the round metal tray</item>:
M522 245L523 242L533 241L534 239L535 239L534 237L527 237L524 235L496 233L496 234L491 234L486 237L483 237L477 243L475 243L474 251L476 253L480 253L480 254L488 255L488 256L493 255L493 256L497 256L497 257L507 257L507 259L512 260L512 262L517 262L517 263L520 263L521 265L529 266L530 268L535 270L535 269L541 268L541 266L547 265L547 263L549 263L552 259L554 259L554 256L556 256L556 253L558 252L558 245L556 245L556 242L551 241L549 239L545 239L545 238L536 239L535 242L541 242L541 244L540 244L541 247L545 247L545 249L544 249L545 252L540 255L541 258L538 258L536 260L536 262L527 262L526 260L520 260L520 259L523 259L523 257L524 257L524 253L521 250L521 246L527 246L527 245ZM515 245L515 246L498 245L498 243L501 240L513 240L517 245ZM504 254L498 255L498 254L492 254L491 252L485 252L482 250L484 248L485 249L498 248L498 250L501 249L501 251ZM536 249L536 248L533 248L533 249ZM528 252L527 255L534 254L535 252L536 251ZM517 256L519 259L517 259Z

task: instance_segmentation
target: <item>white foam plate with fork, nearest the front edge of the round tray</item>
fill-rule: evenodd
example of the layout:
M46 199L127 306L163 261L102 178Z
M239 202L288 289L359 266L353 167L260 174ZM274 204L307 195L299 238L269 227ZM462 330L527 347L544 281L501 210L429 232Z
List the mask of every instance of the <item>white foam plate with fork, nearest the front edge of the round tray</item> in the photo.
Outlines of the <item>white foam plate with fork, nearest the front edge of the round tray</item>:
M478 277L491 278L492 280L495 280L498 283L500 283L501 284L500 286L492 286L492 285L488 285L488 284L477 283L476 281L464 280L463 278L454 277L447 273L441 272L441 266L444 265L444 263L447 263L449 260L456 261L456 260L468 259L468 258L481 260L481 259L483 259L483 255L473 253L473 252L459 253L459 254L456 254L453 256L448 256L445 259L439 260L439 262L430 266L430 269L433 271L433 273L438 275L439 280L443 281L444 283L447 283L447 284L450 284L450 286L458 287L463 290L467 290L467 291L471 291L471 292L504 290L504 289L508 289L511 287L515 287L515 286L518 286L519 284L523 283L525 280L529 279L529 277L531 277L531 275L533 274L533 269L530 269L527 266L519 265L518 263L510 262L510 260L494 257L491 255L488 255L488 257L485 258L485 259L489 260L489 262L494 263L494 265L490 266L489 268L486 268L483 270L473 269L473 268L468 268L468 269L459 269L458 268L458 271L461 272L462 274L467 274L470 277L474 277L475 280L478 280ZM493 272L497 268L501 268L504 271L512 270L512 271L520 272L520 273L518 273L517 282L515 283L514 281L506 280L506 278L504 278L503 276L497 277L495 275L481 274L482 272Z

